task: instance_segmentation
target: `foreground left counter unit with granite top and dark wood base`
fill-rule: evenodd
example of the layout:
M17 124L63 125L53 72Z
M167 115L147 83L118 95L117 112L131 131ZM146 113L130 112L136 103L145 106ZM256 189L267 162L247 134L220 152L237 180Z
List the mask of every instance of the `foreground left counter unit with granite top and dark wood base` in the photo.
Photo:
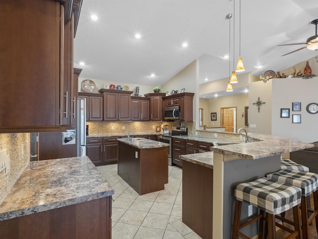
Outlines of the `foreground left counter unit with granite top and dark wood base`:
M0 204L1 238L111 238L111 195L88 157L30 162Z

